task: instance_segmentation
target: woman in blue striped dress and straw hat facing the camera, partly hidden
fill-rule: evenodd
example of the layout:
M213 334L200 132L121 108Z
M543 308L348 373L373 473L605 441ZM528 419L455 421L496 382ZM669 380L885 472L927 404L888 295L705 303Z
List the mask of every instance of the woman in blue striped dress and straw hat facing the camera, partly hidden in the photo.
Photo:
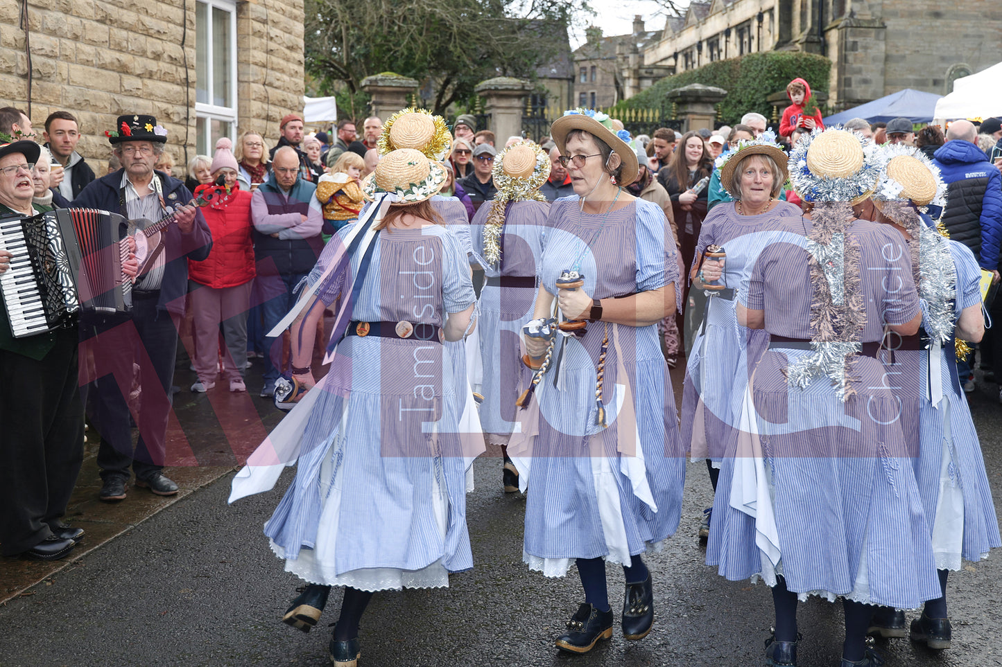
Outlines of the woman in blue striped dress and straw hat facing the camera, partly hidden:
M782 231L781 223L801 216L799 206L777 199L787 182L787 154L773 136L739 142L718 158L717 166L720 182L733 201L715 206L699 231L690 277L693 289L705 290L706 305L688 355L681 406L682 444L689 447L693 461L706 460L714 491L720 457L737 426L747 385L747 349L752 348L752 359L758 359L769 339L763 331L737 326L737 287L763 247L778 238L799 237ZM723 248L725 260L702 262L703 252L711 245ZM707 509L699 527L700 539L709 536L709 520ZM715 564L711 554L706 556L710 565Z

